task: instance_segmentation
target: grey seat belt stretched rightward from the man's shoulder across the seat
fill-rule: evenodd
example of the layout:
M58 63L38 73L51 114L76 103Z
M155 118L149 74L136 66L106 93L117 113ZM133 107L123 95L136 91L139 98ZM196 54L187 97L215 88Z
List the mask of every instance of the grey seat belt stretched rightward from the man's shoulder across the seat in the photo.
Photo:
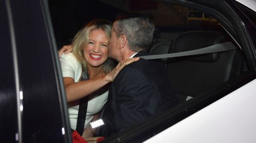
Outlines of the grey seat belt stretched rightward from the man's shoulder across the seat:
M232 42L224 42L196 50L189 50L183 52L176 52L176 53L165 53L165 54L154 54L154 55L143 55L140 58L145 60L152 60L152 59L162 59L162 58L175 58L180 56L189 56L189 55L199 55L199 54L206 54L206 53L215 53L215 52L223 52L229 50L237 49L236 46L233 45Z

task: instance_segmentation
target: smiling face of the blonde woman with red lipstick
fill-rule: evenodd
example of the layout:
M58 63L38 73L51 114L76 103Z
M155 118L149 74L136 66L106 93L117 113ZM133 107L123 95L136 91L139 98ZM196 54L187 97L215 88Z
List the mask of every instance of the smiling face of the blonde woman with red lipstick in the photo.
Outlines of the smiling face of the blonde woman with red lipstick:
M90 32L89 42L83 48L84 58L89 67L100 67L109 58L109 39L101 29Z

